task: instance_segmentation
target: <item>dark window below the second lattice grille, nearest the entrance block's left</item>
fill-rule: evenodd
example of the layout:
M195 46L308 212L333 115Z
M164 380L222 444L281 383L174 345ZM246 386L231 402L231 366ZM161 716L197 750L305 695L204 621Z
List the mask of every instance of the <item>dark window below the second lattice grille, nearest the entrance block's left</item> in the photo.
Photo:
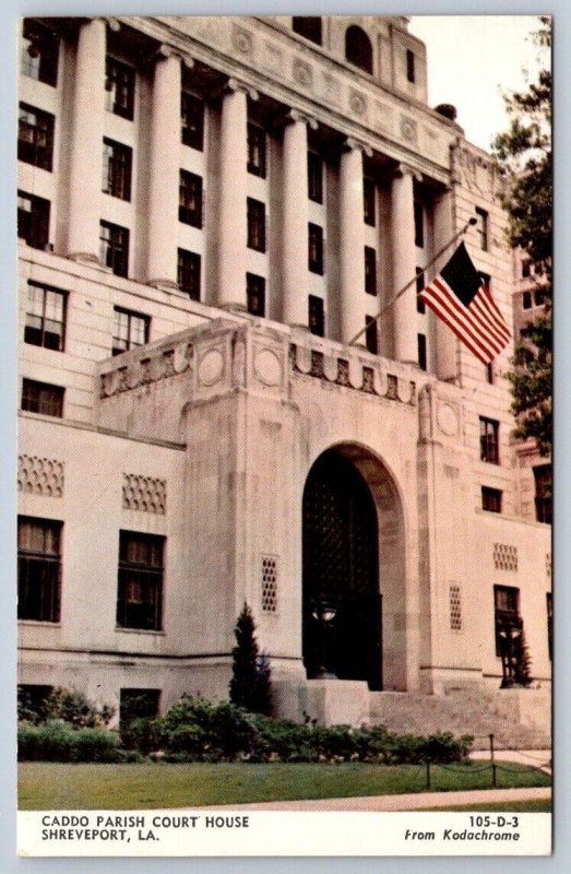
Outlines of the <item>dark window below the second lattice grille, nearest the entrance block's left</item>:
M119 532L117 624L158 631L163 622L165 539L134 531Z

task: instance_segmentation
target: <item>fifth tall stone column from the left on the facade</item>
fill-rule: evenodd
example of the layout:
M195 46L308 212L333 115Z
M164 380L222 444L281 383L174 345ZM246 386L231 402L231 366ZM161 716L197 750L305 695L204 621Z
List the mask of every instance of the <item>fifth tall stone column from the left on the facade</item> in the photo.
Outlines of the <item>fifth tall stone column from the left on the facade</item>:
M341 340L349 343L365 328L365 225L362 149L347 140L340 167ZM365 335L357 340L365 345Z

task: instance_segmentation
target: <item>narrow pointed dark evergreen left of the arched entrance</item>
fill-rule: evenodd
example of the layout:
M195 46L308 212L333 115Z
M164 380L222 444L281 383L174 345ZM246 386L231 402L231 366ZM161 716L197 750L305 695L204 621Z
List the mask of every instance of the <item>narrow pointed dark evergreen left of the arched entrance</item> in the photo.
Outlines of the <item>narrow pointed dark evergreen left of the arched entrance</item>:
M270 662L265 653L259 654L252 611L245 602L234 634L230 701L254 713L272 712Z

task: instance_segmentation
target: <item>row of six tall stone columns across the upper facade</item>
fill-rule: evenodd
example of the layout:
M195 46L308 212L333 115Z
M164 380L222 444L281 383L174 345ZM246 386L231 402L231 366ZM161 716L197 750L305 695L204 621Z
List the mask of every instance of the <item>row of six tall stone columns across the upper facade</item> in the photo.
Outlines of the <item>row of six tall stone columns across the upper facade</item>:
M95 19L80 28L74 91L74 126L70 164L69 255L98 258L100 168L90 156L102 152L105 92L106 24ZM157 55L151 108L148 167L147 281L176 286L174 233L178 223L181 58L164 49ZM218 298L221 307L242 308L247 268L247 123L248 91L230 80L222 105L221 203L218 228ZM283 321L308 327L308 125L292 111L283 151ZM367 146L347 140L340 165L340 311L341 340L348 343L365 327L365 225L362 154ZM414 275L414 172L401 167L392 186L391 248L394 293ZM391 312L391 309L393 310ZM416 290L414 285L388 310L394 355L417 361ZM364 342L361 334L360 342Z

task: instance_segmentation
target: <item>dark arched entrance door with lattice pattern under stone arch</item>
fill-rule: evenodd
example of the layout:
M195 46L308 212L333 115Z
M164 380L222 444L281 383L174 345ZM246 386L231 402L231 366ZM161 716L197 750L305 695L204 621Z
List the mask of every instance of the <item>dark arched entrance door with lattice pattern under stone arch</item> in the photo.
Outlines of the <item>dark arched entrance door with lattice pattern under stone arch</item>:
M304 492L304 661L309 677L325 670L382 688L377 510L334 451L316 461Z

